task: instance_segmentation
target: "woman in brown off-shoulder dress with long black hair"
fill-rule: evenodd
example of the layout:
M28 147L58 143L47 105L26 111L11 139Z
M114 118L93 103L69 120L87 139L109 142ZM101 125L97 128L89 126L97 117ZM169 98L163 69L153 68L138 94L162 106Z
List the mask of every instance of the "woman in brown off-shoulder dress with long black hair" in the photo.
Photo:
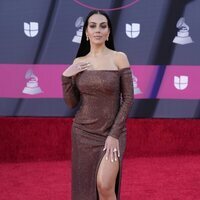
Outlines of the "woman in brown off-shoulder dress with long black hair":
M133 86L127 56L114 50L106 13L89 13L62 86L68 106L80 102L72 126L72 199L119 199Z

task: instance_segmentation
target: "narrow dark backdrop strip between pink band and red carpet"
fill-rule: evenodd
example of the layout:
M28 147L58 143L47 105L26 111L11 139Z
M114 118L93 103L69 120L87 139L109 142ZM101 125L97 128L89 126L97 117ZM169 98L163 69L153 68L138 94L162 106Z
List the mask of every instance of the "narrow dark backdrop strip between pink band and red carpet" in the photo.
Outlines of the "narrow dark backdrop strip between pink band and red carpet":
M199 118L197 100L135 100L129 117L134 118ZM78 109L68 108L63 99L0 99L1 116L68 116Z

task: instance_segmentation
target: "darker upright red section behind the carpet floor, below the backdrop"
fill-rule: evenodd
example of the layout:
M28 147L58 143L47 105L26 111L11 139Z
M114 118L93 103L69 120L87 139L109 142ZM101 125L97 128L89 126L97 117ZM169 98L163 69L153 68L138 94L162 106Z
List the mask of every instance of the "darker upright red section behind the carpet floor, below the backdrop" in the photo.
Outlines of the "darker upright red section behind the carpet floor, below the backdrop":
M0 118L0 162L70 159L68 118ZM129 119L126 157L200 154L198 119Z

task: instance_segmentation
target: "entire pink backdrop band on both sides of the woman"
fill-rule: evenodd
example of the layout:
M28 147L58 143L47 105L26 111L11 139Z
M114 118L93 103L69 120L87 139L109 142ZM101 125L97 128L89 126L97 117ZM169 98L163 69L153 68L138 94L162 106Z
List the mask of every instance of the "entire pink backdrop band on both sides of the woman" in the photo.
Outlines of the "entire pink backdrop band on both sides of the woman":
M158 99L199 99L200 67L167 66L160 86L155 80L162 66L131 66L135 99L150 99L160 87ZM67 65L0 64L0 97L63 98L61 74Z

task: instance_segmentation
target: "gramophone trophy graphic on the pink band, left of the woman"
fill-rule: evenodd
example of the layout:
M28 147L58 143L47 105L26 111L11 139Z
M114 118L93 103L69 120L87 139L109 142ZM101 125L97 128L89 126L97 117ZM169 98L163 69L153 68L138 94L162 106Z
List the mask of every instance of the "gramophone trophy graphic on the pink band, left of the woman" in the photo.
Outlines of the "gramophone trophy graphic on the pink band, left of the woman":
M26 72L25 79L27 79L28 82L26 83L26 87L23 89L22 93L35 95L43 92L38 86L38 77L34 75L31 69Z

